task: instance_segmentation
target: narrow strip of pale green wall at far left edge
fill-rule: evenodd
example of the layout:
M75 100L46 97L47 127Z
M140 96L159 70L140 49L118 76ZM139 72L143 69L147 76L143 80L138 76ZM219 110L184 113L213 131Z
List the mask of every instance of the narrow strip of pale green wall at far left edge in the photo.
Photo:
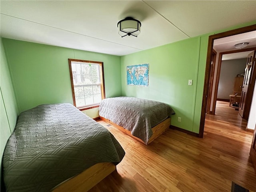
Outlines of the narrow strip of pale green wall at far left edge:
M18 108L12 87L2 38L0 39L0 164L6 142L12 134L18 116Z

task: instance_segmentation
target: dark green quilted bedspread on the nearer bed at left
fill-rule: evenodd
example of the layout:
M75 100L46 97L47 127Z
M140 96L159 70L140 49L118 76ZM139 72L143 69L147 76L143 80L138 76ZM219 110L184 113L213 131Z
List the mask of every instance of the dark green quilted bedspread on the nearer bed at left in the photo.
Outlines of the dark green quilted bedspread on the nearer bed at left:
M98 122L71 104L22 112L3 156L7 192L50 191L100 162L118 164L124 150Z

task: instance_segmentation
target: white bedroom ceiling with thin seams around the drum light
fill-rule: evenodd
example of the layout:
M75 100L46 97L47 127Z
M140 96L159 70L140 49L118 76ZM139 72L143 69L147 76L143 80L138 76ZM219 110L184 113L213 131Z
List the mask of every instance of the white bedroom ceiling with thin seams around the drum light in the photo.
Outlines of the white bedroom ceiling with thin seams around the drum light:
M256 1L0 1L1 36L126 55L256 21ZM141 21L138 38L121 38L117 22Z

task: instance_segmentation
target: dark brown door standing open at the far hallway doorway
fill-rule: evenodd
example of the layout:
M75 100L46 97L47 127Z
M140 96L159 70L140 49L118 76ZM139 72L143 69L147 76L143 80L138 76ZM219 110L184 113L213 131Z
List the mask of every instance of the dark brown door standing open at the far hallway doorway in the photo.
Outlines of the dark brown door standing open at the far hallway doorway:
M245 114L249 114L249 112L245 113L245 109L250 110L246 104L248 104L248 98L247 98L247 92L248 92L248 86L251 83L251 76L252 76L252 69L254 66L254 52L250 53L247 58L247 63L244 69L244 81L242 84L242 94L241 94L241 100L240 100L240 105L239 105L239 114L242 118L248 120L248 116ZM251 102L251 101L250 101Z

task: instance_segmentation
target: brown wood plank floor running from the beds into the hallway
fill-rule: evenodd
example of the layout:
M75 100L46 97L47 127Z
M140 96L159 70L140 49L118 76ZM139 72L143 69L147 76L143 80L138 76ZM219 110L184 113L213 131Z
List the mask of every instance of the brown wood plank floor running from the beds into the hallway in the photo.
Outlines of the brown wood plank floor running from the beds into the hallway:
M169 129L149 146L99 121L126 155L90 192L230 192L232 181L256 192L249 157L252 132L227 102L207 115L204 138Z

